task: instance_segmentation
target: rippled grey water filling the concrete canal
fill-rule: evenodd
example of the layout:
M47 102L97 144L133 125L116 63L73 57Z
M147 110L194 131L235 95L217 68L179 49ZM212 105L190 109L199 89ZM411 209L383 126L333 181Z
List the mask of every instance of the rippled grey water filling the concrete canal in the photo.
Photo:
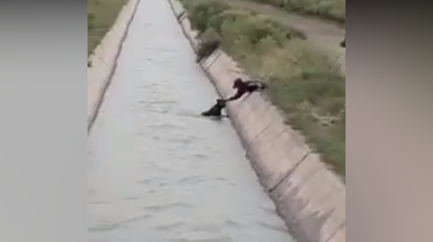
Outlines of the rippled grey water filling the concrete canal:
M88 138L89 242L292 242L167 1L141 0Z

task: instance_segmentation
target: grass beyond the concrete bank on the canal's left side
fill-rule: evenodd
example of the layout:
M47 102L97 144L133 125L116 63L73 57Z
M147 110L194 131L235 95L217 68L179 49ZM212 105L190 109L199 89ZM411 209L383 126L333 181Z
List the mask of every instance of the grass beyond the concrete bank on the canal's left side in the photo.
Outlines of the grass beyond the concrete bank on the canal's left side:
M116 21L128 0L87 0L87 57Z

